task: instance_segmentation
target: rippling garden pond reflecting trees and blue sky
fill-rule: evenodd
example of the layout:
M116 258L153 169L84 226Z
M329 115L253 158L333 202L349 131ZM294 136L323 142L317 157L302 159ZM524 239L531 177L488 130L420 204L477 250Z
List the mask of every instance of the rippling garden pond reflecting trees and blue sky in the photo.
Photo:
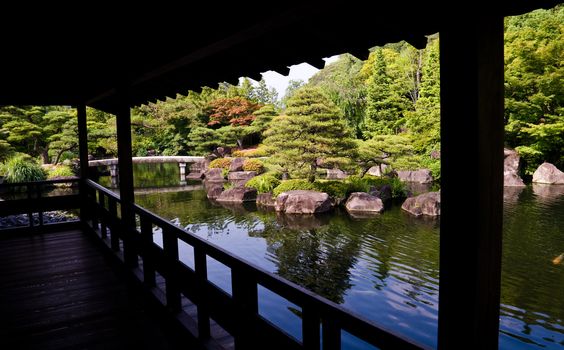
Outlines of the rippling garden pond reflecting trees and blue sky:
M136 166L136 179L143 179L137 185L152 185L148 174L160 184L178 184L174 167ZM436 347L439 220L414 218L399 205L372 218L343 210L283 216L254 205L221 206L199 185L166 190L141 190L135 199L253 264ZM564 253L564 186L507 189L503 239L500 348L562 349L564 262L553 260ZM180 247L181 259L193 265L186 248ZM210 280L230 292L227 268L213 259L208 265ZM299 312L280 299L259 289L259 312L300 339ZM371 348L347 334L343 345Z

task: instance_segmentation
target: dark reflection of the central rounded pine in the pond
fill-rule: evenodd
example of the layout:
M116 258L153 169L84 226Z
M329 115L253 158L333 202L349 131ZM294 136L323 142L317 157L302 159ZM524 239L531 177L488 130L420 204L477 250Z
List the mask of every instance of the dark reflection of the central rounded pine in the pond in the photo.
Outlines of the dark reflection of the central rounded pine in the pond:
M271 214L271 218L274 217ZM287 217L279 220L288 222ZM311 226L317 226L318 219ZM291 219L306 225L307 219ZM279 221L264 221L265 229L249 233L264 237L268 251L276 256L277 274L334 302L342 303L351 287L349 270L356 263L360 237L341 234L339 225L309 229L288 229Z

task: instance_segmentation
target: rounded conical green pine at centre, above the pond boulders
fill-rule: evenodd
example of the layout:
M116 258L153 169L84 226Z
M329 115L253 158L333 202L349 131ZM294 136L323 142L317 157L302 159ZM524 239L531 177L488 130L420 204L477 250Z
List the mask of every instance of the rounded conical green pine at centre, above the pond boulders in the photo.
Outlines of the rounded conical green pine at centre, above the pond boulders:
M273 162L310 182L315 180L319 159L340 168L350 163L356 147L351 131L340 110L319 89L298 90L286 113L265 132L264 144L273 152Z

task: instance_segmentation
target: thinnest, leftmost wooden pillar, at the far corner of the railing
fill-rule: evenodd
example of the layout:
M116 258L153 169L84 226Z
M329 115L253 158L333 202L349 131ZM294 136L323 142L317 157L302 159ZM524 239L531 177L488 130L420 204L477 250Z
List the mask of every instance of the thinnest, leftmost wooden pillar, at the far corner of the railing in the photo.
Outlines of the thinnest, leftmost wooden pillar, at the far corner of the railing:
M86 126L86 105L80 104L76 107L78 120L78 157L80 162L80 222L86 224L88 218L88 201L86 180L88 179L88 130Z

